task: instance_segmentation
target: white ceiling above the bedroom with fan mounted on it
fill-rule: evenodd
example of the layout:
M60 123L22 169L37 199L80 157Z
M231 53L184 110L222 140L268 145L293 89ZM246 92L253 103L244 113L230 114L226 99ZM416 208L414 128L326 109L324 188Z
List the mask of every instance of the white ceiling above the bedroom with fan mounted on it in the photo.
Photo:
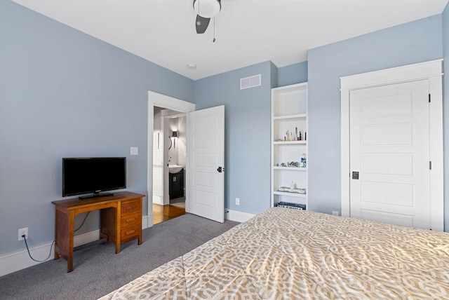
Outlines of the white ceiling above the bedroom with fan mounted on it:
M193 0L14 0L190 79L271 60L443 12L448 0L222 0L196 34ZM196 69L187 64L196 64Z

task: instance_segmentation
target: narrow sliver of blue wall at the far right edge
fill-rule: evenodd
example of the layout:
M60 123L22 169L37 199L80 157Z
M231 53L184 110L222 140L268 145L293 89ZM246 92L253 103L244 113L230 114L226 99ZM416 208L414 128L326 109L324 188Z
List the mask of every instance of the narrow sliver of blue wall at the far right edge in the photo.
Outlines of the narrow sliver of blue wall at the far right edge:
M449 4L443 11L444 224L449 232Z

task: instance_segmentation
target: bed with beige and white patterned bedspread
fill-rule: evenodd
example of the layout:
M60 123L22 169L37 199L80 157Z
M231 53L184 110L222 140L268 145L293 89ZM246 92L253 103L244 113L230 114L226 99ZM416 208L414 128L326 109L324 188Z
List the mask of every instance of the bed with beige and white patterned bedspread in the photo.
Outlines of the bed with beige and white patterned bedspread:
M449 299L449 233L273 207L101 299Z

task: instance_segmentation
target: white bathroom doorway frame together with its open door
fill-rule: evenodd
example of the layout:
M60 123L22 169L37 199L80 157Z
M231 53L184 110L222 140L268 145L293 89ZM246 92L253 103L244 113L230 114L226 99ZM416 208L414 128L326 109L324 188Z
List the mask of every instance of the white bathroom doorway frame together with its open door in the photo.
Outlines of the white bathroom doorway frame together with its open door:
M225 106L195 111L195 104L148 92L147 226L153 224L154 107L185 113L187 124L185 212L223 222L225 216ZM190 168L192 165L192 168ZM164 161L163 168L168 168ZM213 176L215 175L215 176Z

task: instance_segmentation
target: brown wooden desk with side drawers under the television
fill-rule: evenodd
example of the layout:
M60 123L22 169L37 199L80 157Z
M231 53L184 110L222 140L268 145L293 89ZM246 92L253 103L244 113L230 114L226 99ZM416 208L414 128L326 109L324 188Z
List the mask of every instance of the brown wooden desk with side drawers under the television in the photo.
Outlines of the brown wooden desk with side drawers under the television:
M53 201L55 205L55 259L67 260L67 273L73 271L73 236L76 214L101 210L100 238L120 245L138 239L142 244L142 198L145 195L123 191L113 196Z

